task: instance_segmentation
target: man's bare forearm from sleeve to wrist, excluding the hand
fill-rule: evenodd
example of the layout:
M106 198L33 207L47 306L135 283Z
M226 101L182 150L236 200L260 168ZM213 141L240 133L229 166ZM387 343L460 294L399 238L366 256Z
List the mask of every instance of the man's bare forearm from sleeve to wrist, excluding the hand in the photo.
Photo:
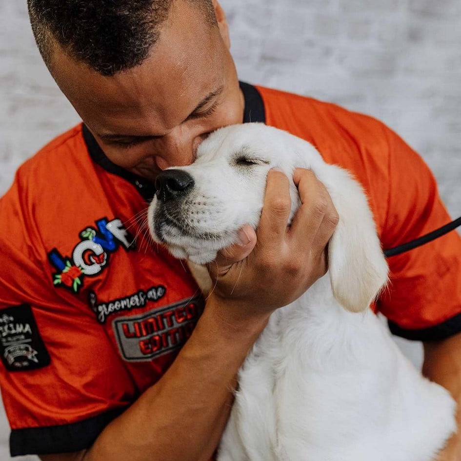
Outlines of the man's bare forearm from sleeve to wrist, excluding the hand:
M267 322L231 325L207 303L165 375L112 421L84 461L207 461L225 427L235 376Z

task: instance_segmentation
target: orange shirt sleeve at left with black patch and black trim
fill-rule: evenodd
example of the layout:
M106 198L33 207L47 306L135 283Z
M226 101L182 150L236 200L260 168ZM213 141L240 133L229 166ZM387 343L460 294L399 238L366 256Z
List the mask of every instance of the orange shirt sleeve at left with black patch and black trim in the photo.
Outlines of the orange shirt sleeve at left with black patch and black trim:
M0 388L12 456L74 452L136 398L88 305L57 293L17 188L0 199Z

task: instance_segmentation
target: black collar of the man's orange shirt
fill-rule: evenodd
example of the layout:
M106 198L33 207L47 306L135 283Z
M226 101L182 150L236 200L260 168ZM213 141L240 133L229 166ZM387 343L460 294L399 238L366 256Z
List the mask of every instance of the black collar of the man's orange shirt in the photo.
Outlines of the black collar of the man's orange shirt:
M243 112L243 123L249 122L265 122L264 102L262 101L259 91L248 83L240 82L240 88L245 98L245 109ZM151 200L155 194L155 186L152 181L149 181L141 176L125 170L119 165L116 165L109 160L95 137L90 130L83 124L83 139L92 160L100 165L104 170L114 175L131 182L139 191L144 200Z

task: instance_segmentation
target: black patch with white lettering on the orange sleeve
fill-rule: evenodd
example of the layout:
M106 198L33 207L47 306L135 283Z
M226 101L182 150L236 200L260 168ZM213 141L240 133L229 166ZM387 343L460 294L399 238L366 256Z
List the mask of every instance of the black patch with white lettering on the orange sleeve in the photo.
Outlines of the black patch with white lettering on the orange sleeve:
M50 364L28 304L0 310L0 354L9 371L37 370Z

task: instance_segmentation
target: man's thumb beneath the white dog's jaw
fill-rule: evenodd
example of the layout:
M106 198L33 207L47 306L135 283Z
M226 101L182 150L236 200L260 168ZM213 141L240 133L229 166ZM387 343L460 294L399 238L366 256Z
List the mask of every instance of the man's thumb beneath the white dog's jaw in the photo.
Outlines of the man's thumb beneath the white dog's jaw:
M233 264L242 261L253 251L256 233L248 224L240 229L238 237L237 243L221 250L216 260L210 263L209 271L212 276L225 274Z

